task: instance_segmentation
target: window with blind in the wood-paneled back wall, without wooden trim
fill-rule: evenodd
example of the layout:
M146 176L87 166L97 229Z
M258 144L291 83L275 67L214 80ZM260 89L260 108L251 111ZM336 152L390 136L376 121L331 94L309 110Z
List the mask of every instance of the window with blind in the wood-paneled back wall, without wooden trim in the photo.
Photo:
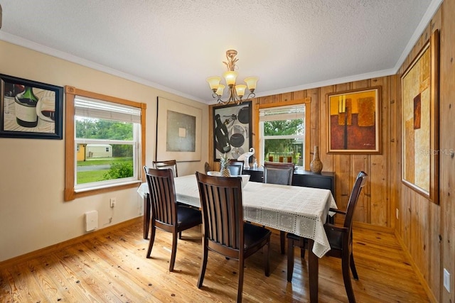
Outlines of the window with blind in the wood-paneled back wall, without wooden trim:
M259 131L264 161L305 166L305 104L259 109Z

